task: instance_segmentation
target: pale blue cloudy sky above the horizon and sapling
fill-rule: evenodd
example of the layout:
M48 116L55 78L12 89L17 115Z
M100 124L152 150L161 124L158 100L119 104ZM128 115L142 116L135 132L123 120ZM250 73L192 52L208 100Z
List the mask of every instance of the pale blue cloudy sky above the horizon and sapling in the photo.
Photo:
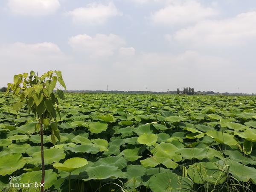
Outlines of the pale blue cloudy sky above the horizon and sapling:
M255 0L0 0L0 87L256 93Z

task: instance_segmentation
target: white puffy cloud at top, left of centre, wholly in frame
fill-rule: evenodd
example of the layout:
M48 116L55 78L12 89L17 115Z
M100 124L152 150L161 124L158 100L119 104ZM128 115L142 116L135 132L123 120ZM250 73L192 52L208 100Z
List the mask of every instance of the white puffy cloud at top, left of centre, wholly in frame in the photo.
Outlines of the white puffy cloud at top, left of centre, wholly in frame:
M109 18L122 15L114 3L90 3L86 7L76 8L69 12L75 23L102 24Z

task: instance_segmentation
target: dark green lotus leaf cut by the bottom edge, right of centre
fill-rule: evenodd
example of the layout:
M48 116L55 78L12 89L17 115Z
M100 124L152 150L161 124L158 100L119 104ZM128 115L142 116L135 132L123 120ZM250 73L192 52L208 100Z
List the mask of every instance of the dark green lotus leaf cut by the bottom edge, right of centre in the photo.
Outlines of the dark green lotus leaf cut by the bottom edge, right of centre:
M175 173L158 173L149 179L149 187L152 192L185 192L192 189L192 182Z

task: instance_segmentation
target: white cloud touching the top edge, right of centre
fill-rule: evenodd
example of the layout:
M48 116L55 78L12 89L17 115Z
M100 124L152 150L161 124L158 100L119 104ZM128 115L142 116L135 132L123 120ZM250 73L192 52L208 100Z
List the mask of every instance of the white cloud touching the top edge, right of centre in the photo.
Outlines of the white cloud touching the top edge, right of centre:
M183 3L171 3L165 8L158 10L151 15L153 23L164 25L183 25L196 23L207 17L217 15L217 11L210 7L204 7L195 0Z

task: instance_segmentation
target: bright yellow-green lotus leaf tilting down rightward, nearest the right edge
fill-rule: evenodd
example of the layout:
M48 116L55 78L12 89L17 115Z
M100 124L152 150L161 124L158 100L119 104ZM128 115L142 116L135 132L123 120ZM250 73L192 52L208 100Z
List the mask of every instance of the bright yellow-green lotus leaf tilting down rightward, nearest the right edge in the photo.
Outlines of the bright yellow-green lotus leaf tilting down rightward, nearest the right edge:
M207 131L206 134L212 137L218 143L224 143L226 145L236 145L237 141L234 139L233 135L224 133L222 131Z

